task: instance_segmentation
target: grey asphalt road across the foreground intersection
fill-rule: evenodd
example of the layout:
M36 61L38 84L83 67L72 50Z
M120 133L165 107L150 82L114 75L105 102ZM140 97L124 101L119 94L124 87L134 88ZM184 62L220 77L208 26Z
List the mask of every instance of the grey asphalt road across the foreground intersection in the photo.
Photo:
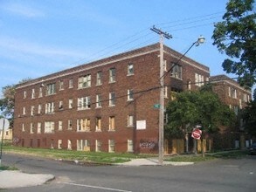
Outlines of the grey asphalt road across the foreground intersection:
M80 166L62 161L3 154L3 164L26 173L52 174L41 186L3 191L255 191L256 155L239 160L217 160L174 166ZM0 178L1 182L1 178Z

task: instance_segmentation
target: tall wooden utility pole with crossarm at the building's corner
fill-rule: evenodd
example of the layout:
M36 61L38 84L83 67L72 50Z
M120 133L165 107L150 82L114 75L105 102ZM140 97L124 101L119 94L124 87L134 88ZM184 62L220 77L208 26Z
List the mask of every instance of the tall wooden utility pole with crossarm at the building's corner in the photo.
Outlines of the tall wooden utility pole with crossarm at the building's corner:
M164 153L164 148L163 148L163 141L164 141L164 79L163 79L163 72L164 72L164 67L163 67L163 38L170 39L172 36L168 34L167 32L163 32L160 29L157 29L155 25L150 28L151 31L156 32L158 35L160 35L160 99L159 99L159 139L158 139L158 163L159 165L163 165L163 153Z

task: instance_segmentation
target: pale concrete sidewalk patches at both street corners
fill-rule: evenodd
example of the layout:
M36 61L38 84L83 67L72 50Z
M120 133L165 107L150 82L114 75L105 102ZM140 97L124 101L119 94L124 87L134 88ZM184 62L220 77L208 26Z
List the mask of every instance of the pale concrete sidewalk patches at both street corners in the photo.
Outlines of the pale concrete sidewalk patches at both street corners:
M74 161L77 163L77 161ZM191 165L193 162L173 162L173 161L163 161L163 166L184 166ZM116 163L116 166L159 166L157 159L133 159L132 161L124 163ZM15 189L22 187L31 187L42 185L45 182L52 181L55 177L54 175L44 175L44 174L27 174L22 171L0 171L0 189Z

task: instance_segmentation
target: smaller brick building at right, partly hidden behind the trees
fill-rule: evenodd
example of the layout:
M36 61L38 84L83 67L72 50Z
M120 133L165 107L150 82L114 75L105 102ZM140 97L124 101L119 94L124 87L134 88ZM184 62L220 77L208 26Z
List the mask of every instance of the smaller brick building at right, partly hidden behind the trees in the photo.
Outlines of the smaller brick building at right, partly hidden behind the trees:
M213 91L218 94L218 97L225 105L234 111L238 120L236 127L232 131L225 133L225 129L221 130L223 136L225 136L223 141L226 142L225 146L222 147L249 147L250 135L245 133L243 120L240 117L239 111L245 108L246 103L252 99L251 90L239 86L237 81L225 75L211 76L210 81L214 85Z

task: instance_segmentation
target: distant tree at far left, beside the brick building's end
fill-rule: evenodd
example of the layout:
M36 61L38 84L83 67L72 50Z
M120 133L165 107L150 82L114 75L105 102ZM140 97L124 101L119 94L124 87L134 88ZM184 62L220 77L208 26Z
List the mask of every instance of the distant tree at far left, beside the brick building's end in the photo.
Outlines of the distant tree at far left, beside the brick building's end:
M23 79L19 83L24 83L28 80L30 79ZM7 118L10 121L10 127L13 126L14 99L16 86L17 85L4 86L2 88L3 98L0 99L0 115Z

